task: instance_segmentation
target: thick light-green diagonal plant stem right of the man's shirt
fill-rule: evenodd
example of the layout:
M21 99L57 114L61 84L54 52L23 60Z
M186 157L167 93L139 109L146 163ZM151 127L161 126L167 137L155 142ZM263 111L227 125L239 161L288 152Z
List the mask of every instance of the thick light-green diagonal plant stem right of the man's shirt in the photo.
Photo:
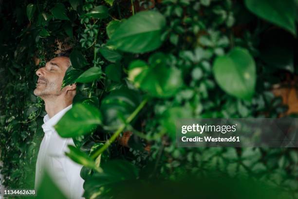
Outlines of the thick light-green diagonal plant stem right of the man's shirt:
M125 129L126 125L132 121L136 117L136 115L142 110L142 108L145 106L147 103L148 99L143 100L139 106L130 114L130 116L125 120L125 123L121 124L119 128L114 132L112 137L106 141L106 143L99 148L97 151L94 152L94 154L91 156L92 159L96 159L97 156L102 154L111 144L115 139L119 136L119 134Z

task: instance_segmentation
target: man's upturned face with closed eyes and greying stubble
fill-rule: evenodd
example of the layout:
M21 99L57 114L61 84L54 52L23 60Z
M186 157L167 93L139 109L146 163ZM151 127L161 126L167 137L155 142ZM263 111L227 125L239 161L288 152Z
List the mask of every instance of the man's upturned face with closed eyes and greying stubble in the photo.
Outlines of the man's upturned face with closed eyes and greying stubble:
M56 57L48 61L44 67L39 68L36 71L38 80L34 95L41 98L61 95L63 93L62 80L69 65L69 58Z

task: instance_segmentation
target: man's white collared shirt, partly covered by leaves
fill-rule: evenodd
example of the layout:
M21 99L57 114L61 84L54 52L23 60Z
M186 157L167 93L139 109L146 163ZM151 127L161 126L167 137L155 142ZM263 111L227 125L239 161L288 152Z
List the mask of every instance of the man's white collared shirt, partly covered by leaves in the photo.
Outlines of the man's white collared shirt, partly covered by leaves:
M44 169L69 199L83 199L84 179L80 177L82 165L65 155L69 152L68 144L75 145L72 138L61 138L53 127L62 116L72 108L72 104L61 110L51 119L44 116L42 125L44 137L40 143L36 162L35 190L42 180Z

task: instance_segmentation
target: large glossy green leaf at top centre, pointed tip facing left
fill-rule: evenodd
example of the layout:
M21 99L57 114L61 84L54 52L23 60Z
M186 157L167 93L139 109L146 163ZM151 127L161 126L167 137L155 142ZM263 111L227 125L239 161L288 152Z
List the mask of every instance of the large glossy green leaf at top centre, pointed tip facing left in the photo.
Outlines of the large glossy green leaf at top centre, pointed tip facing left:
M159 48L166 25L165 17L156 11L142 11L120 24L108 45L130 53L145 53Z

